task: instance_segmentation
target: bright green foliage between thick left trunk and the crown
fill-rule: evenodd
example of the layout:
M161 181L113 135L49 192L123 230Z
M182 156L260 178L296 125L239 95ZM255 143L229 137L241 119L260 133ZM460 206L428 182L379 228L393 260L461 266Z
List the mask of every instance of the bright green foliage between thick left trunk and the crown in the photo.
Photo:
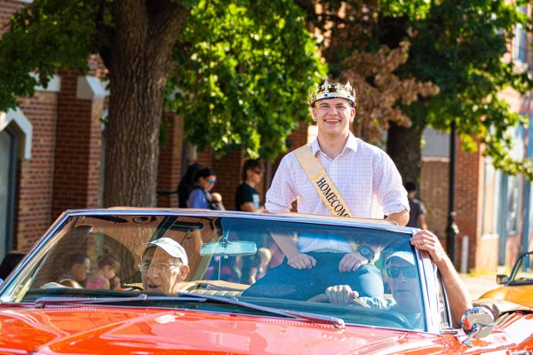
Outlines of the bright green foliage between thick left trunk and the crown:
M285 138L309 118L309 88L325 75L305 25L291 0L200 2L171 82L188 140L215 154L245 147L274 160L284 151Z

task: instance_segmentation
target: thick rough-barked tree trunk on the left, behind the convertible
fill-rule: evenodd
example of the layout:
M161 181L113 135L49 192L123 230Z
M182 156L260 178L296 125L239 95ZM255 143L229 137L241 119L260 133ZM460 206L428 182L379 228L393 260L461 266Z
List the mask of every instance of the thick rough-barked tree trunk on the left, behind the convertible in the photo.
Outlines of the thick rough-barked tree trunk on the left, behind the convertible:
M156 204L164 86L188 13L168 0L115 1L115 28L102 55L111 91L105 207Z

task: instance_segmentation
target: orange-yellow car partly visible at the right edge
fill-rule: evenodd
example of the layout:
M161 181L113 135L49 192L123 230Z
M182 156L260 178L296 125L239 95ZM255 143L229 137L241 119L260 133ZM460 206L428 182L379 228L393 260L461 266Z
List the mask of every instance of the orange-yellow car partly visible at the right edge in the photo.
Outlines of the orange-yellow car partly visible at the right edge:
M511 275L497 275L496 281L504 286L492 289L480 298L496 298L533 307L533 251L518 258Z

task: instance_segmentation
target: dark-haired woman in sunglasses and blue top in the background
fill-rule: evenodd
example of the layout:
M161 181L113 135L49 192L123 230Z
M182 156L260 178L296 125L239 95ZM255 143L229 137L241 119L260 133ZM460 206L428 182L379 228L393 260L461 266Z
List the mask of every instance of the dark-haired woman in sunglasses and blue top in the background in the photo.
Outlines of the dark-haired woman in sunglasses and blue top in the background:
M214 170L203 168L195 175L195 187L189 193L187 207L189 209L220 209L224 210L222 196L212 193L211 190L217 183L217 174Z

